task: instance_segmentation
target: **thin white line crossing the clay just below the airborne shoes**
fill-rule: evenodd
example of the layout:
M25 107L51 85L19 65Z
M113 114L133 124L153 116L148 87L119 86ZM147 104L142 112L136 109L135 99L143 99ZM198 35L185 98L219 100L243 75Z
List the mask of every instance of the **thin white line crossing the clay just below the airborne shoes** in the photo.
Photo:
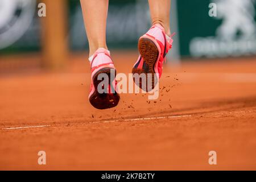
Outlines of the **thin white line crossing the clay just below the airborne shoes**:
M207 113L209 115L220 115L220 114L236 114L236 113L255 113L253 110L247 111L228 111L227 113ZM204 114L204 113L202 113ZM54 127L54 126L68 126L68 125L83 125L88 123L112 123L112 122L125 122L125 121L143 121L143 120L152 120L152 119L170 119L170 118L184 118L184 117L192 117L193 115L200 115L200 114L187 114L187 115L169 115L163 117L149 117L149 118L131 118L131 119L115 119L109 121L96 121L96 122L83 122L83 123L65 123L59 125L38 125L38 126L20 126L20 127L5 127L1 130L18 130L18 129L31 129L37 127Z

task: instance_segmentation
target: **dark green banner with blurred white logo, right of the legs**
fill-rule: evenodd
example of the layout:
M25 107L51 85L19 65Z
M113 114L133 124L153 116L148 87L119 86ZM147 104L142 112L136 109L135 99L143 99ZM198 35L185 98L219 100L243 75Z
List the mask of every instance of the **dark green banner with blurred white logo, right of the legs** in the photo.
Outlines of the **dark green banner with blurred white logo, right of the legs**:
M197 3L198 6L197 6ZM195 1L191 12L189 33L181 36L181 54L193 57L225 57L256 54L256 22L254 0ZM216 16L210 16L209 4L216 6ZM195 19L196 18L196 19ZM182 21L180 19L180 21ZM181 23L182 26L182 23ZM182 30L184 27L180 27ZM186 29L189 31L188 29ZM193 35L192 35L193 34ZM185 44L188 47L184 46Z

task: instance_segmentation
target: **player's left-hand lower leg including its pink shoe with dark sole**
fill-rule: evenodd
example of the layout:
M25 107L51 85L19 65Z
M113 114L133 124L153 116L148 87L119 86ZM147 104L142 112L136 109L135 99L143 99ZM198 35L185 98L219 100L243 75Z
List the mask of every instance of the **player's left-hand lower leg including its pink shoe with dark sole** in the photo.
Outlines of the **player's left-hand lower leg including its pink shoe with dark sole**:
M115 91L115 67L106 46L108 0L80 0L89 42L91 86L89 101L97 109L108 109L119 102ZM107 81L104 79L108 78Z

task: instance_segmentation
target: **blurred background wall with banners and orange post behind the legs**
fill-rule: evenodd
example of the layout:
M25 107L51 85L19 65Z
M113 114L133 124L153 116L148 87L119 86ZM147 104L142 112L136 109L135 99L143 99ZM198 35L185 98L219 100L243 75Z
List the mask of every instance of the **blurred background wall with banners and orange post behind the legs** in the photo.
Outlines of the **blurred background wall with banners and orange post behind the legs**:
M40 2L46 3L46 17L38 17ZM209 16L210 3L217 5L217 16ZM254 0L172 0L171 28L176 36L170 58L255 55L255 8ZM149 27L147 0L110 0L110 49L136 50L139 36ZM81 51L88 51L88 40L79 0L0 1L0 62L6 55L38 53L46 62L42 65L57 67L61 61L51 63L64 61L63 52Z

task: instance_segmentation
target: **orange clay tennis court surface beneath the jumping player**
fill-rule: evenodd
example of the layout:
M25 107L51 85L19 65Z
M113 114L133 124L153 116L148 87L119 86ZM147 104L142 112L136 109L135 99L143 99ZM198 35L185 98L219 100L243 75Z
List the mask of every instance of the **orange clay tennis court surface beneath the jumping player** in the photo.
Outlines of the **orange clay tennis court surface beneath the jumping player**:
M114 52L118 73L137 56ZM256 169L255 57L164 65L158 100L121 94L108 110L89 104L86 57L72 56L65 72L1 74L0 169Z

